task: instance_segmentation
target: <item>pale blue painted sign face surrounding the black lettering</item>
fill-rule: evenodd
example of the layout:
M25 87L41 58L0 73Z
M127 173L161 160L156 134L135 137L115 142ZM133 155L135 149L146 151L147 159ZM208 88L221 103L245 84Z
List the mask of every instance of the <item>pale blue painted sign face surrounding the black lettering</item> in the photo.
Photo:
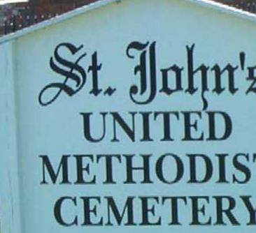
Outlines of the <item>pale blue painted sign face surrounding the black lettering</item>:
M253 18L253 17L252 17ZM11 37L10 37L11 38ZM83 137L83 122L80 112L111 112L121 113L132 111L166 111L166 110L201 110L201 98L199 95L190 96L176 95L170 98L158 96L150 105L134 105L129 98L129 87L136 82L133 68L136 64L125 55L127 45L131 41L138 40L143 43L157 41L157 62L159 68L166 68L170 64L178 63L185 66L185 46L195 43L195 62L206 63L213 66L215 63L225 66L227 62L238 64L239 52L246 52L248 66L256 63L256 24L236 15L228 15L211 8L203 8L200 5L179 0L129 0L120 3L110 3L102 8L97 8L85 14L70 17L69 20L58 24L48 24L48 27L27 33L18 37L15 41L15 68L11 68L15 75L3 75L4 78L13 77L15 88L10 87L1 92L1 109L5 109L6 99L13 105L8 119L17 116L17 147L13 142L12 149L17 149L19 181L20 181L20 202L22 233L90 233L98 232L254 232L254 227L242 225L240 227L205 227L197 229L188 224L182 227L61 227L54 220L52 206L57 198L64 195L220 195L229 194L243 195L255 193L255 184L249 183L246 186L223 185L217 186L210 182L199 188L186 186L185 182L175 186L165 186L157 183L156 186L42 186L41 181L41 160L39 155L48 154L52 161L57 164L62 154L79 153L153 153L155 156L173 152L180 155L185 153L238 153L255 152L255 119L256 99L254 95L246 96L246 75L241 73L236 84L241 88L236 96L213 96L206 93L209 101L209 110L227 111L232 115L234 121L234 133L232 138L225 142L173 142L142 144L132 143L124 140L119 144L112 144L105 140L95 146L86 142ZM10 52L10 48L2 40L1 51ZM94 51L99 54L99 62L103 63L101 71L101 85L108 87L109 82L118 89L115 97L93 98L88 95L90 75L87 84L76 96L68 98L65 95L49 105L41 107L38 104L38 93L50 82L57 81L59 76L52 73L49 67L49 60L55 47L59 43L69 42L74 45L84 45L87 57L83 61L85 67L90 61ZM7 46L7 48L6 48ZM3 54L3 52L1 52ZM6 55L7 56L7 55ZM9 55L11 56L11 55ZM71 57L69 57L71 59ZM10 58L9 58L10 59ZM1 59L1 66L6 68L4 62L6 57ZM1 69L1 72L5 70ZM11 72L11 71L9 71ZM159 75L159 70L157 71ZM62 77L61 77L62 78ZM1 78L1 86L7 81ZM10 84L13 85L13 84ZM7 91L9 90L9 91ZM8 97L9 93L15 97ZM4 101L3 101L4 100ZM16 100L16 102L15 102ZM241 114L240 112L243 112ZM6 112L8 113L8 112ZM15 119L8 124L15 126ZM4 119L1 118L1 123ZM1 126L3 127L3 126ZM3 129L1 132L10 130L14 135L15 128ZM159 135L159 128L153 126L152 130ZM176 133L179 133L179 126L174 126ZM15 138L15 137L12 137ZM124 139L126 137L124 136ZM243 140L246 138L246 140ZM6 142L6 139L3 140ZM3 152L2 152L3 151ZM2 149L1 153L8 151ZM16 151L10 152L15 155ZM11 156L11 158L13 158ZM14 156L15 158L15 156ZM1 156L4 164L8 160ZM15 165L15 159L13 165ZM1 165L8 170L9 165ZM4 172L2 170L1 172ZM12 170L13 171L13 170ZM16 168L15 170L16 171ZM95 172L100 173L101 170ZM118 170L122 177L122 171ZM15 173L15 172L14 172ZM16 171L17 173L17 171ZM16 174L15 173L15 174ZM6 178L6 172L3 176ZM255 170L252 176L255 176ZM7 185L8 180L4 181ZM1 188L3 186L1 185ZM17 181L15 186L17 187ZM186 187L184 189L184 187ZM17 190L15 190L15 193ZM1 195L2 196L2 195ZM2 198L6 198L4 195ZM10 200L2 199L4 209L10 210ZM17 206L18 202L15 206ZM1 206L0 206L1 208ZM82 209L78 206L77 211L83 215ZM168 209L164 210L168 213ZM239 210L238 210L239 211ZM9 212L10 213L10 212ZM70 212L73 213L72 211ZM184 213L185 216L186 213ZM17 233L11 229L9 216L2 213L3 225L6 231ZM186 218L186 217L185 217ZM7 220L6 220L7 219ZM15 218L18 219L18 218ZM9 228L8 228L9 227ZM3 232L5 233L5 232Z

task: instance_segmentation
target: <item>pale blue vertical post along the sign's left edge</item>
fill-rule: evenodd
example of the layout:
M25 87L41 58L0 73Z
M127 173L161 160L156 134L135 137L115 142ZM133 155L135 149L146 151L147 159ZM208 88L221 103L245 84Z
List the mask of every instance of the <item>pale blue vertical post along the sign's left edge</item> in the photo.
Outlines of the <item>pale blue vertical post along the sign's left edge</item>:
M1 232L20 232L18 181L15 41L1 45L0 54L0 223Z

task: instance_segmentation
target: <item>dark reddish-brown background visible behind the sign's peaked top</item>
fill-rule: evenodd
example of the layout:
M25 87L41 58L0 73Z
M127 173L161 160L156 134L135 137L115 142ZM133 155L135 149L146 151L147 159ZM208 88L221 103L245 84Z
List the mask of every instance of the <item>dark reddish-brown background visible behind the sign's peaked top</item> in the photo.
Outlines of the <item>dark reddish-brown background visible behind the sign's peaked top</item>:
M0 3L3 0L0 0ZM6 1L6 0L5 0ZM15 0L8 0L15 1ZM17 0L22 1L22 0ZM23 0L0 5L0 36L99 0ZM256 0L213 0L256 13Z

